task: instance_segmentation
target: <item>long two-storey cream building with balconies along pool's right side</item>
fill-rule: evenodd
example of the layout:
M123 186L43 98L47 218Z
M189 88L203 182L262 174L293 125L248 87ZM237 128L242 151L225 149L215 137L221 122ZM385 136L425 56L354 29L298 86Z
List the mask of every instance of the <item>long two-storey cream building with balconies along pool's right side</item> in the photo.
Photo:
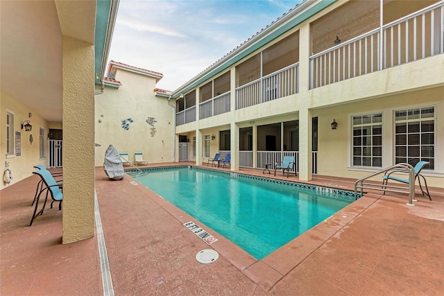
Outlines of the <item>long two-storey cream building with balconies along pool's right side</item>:
M176 158L294 155L300 180L426 161L443 187L443 53L443 1L302 1L172 93Z

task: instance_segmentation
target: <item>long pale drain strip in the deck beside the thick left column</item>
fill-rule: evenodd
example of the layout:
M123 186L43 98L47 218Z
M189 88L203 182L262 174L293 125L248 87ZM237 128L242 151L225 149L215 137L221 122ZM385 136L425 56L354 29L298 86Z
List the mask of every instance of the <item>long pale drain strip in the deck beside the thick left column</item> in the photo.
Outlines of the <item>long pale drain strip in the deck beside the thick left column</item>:
M110 261L108 261L108 252L106 252L105 238L103 237L102 220L99 212L99 202L97 193L94 191L94 214L96 217L97 243L99 245L100 268L102 271L103 295L114 296L112 287L112 278L110 271Z

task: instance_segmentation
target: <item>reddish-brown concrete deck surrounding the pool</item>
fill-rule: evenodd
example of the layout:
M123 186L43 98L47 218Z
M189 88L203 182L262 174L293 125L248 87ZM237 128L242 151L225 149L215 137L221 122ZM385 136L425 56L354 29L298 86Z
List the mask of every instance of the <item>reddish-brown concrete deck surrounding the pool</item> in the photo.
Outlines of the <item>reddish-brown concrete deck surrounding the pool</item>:
M27 226L38 180L1 191L0 294L103 295L97 236L62 245L57 207ZM354 183L317 175L310 182L339 189ZM441 295L444 192L429 191L432 201L417 191L416 207L405 205L407 194L369 193L257 261L133 178L110 181L96 168L115 295ZM218 241L204 243L183 225L190 220ZM209 248L219 259L198 263L196 254Z

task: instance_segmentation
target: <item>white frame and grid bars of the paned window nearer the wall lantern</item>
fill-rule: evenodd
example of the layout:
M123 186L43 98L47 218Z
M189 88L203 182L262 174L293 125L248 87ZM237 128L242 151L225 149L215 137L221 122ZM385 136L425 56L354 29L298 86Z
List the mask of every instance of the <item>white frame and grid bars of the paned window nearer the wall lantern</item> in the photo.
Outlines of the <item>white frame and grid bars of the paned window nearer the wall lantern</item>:
M355 123L355 117L361 116L362 118L370 117L371 121L366 123ZM380 116L381 121L373 121L375 116ZM352 168L382 168L384 165L384 112L366 112L365 114L352 114L350 117L351 131L350 131L350 166ZM381 134L373 134L373 127L380 125ZM364 139L363 134L355 135L355 128L370 128L370 145L364 145L362 143ZM380 145L374 144L375 138L380 137ZM355 139L361 139L361 145L355 146ZM355 155L355 148L361 148L361 154ZM364 155L364 148L369 148L370 151L367 155ZM375 150L379 149L379 155L376 155ZM368 155L369 154L369 155ZM361 164L355 164L355 157L361 157ZM364 158L370 158L370 165L364 165ZM380 159L379 164L375 164L375 160Z

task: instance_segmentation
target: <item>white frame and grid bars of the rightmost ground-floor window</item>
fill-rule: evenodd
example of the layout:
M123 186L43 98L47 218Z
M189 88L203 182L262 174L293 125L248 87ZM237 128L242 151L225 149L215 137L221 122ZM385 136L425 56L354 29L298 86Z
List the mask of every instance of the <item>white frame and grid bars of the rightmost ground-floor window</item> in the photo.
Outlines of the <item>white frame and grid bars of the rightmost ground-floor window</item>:
M432 116L427 116L427 113L422 114L422 110L427 110L433 108L433 115ZM413 114L414 111L419 110L418 116L415 116L415 114ZM398 119L396 118L396 113L397 112L402 112L405 111L406 112L406 118L405 119ZM395 110L393 110L393 164L397 164L398 162L407 162L409 164L411 164L412 166L415 166L415 164L417 162L420 161L426 161L426 162L430 162L431 159L433 159L433 161L431 162L431 164L429 164L428 166L426 166L425 170L430 170L430 171L436 171L436 168L438 166L436 159L438 157L437 153L436 153L436 143L438 141L437 139L437 130L436 130L436 119L437 119L437 113L438 113L438 109L436 105L420 105L420 106L415 106L415 107L404 107L404 108L396 108ZM429 132L429 131L422 131L422 126L421 123L424 121L433 121L433 132ZM420 129L418 130L418 132L409 132L409 123L414 123L414 122L419 122L420 123ZM397 124L398 123L407 123L407 130L405 132L406 134L406 142L405 144L402 143L398 143L397 141L397 135L398 134L404 134L404 132L397 132ZM433 134L433 144L422 144L422 135L424 134ZM418 134L418 143L409 143L410 134ZM413 139L414 141L414 139ZM409 147L414 147L414 146L420 146L419 149L419 155L414 155L413 153L413 149L410 150ZM397 153L397 148L402 148L405 147L406 148L406 154L405 157L404 156L398 156ZM425 149L427 148L427 149ZM427 151L432 150L432 157L430 157L430 155L427 155ZM405 158L405 159L402 159ZM399 161L398 161L399 159Z

